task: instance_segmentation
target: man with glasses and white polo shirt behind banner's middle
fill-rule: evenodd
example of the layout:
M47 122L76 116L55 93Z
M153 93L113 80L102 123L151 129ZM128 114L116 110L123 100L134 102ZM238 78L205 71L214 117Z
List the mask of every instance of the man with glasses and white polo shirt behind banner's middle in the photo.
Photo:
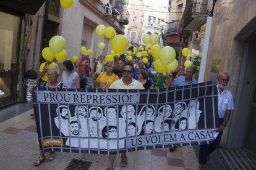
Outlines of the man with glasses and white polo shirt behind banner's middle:
M122 78L114 81L109 89L144 89L143 85L133 78L134 76L134 66L130 63L126 63L122 69ZM124 127L126 128L126 127ZM109 165L108 170L113 169L114 159L116 154L109 155ZM126 153L121 155L121 166L127 166L127 156Z

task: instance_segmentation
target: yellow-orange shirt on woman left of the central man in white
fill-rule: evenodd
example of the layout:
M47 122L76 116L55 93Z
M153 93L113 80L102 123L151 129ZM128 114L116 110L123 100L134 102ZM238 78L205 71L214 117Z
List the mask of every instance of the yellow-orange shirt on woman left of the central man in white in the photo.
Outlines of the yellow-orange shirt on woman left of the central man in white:
M117 75L115 75L114 73L113 73L113 75L108 76L108 75L106 75L106 72L104 72L104 73L100 73L100 75L96 79L96 83L100 83L100 88L106 86L106 88L108 89L109 86L117 79L119 79L119 77Z

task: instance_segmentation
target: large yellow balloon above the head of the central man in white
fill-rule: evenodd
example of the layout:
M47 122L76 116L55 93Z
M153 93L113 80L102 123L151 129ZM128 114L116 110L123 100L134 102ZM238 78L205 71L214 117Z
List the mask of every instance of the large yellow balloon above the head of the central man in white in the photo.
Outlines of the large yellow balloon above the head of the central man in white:
M111 47L114 52L121 53L122 51L126 50L127 47L127 39L125 36L118 34L114 36L111 41Z

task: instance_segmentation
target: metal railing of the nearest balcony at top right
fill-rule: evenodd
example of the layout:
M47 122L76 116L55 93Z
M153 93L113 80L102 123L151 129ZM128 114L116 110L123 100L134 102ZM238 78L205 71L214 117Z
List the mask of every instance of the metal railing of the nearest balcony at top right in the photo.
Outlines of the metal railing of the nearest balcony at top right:
M206 0L187 0L186 8L182 15L182 20L184 23L189 20L192 15L206 15L208 14L207 10L207 1Z

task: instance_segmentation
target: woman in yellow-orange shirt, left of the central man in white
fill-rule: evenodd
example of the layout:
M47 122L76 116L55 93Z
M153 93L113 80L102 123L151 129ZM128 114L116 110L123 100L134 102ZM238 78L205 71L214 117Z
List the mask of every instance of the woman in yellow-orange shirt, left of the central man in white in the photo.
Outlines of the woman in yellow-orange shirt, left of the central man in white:
M108 89L114 81L119 79L119 77L113 73L115 67L114 62L106 62L104 66L105 72L100 73L96 79L96 87L101 89Z

